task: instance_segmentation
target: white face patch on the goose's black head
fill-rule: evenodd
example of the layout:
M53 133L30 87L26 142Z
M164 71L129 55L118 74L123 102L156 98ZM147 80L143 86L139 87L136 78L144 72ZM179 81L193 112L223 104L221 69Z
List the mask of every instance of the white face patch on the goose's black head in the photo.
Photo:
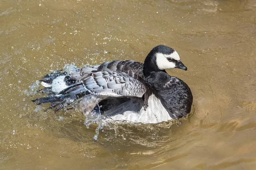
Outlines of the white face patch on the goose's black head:
M156 58L157 58L157 60L156 60L157 66L158 66L158 68L160 70L165 70L165 69L169 69L169 68L175 68L175 66L176 66L175 63L168 61L167 58L173 58L173 59L175 59L177 61L180 60L180 56L179 56L179 54L176 51L174 51L170 55L165 55L163 53L157 53L156 54Z

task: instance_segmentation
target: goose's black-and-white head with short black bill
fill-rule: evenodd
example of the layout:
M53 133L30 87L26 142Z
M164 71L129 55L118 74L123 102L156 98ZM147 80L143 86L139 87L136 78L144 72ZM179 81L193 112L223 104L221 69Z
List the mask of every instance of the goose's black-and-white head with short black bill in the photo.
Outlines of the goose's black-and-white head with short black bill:
M164 71L169 68L187 70L186 66L180 61L177 51L166 45L157 45L146 57L143 72L147 74L152 71Z

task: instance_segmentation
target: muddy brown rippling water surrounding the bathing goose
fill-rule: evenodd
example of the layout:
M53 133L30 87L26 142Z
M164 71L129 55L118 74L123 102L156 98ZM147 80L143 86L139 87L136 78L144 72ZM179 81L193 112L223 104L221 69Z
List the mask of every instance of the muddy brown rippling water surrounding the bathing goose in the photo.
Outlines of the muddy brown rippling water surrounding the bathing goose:
M255 0L0 0L0 169L255 170ZM67 63L143 62L165 44L194 96L180 124L87 129L44 110L36 80ZM116 131L116 132L115 132Z

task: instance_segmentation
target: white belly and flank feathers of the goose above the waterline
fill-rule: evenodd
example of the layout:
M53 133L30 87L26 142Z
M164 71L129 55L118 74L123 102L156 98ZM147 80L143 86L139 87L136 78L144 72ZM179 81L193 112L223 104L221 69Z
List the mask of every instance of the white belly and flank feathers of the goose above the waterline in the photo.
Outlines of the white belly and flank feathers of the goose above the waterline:
M123 114L111 116L111 118L113 120L126 120L141 123L159 123L172 119L160 100L157 99L154 94L149 96L148 108L146 108L146 110L142 108L139 113L134 111L125 111Z

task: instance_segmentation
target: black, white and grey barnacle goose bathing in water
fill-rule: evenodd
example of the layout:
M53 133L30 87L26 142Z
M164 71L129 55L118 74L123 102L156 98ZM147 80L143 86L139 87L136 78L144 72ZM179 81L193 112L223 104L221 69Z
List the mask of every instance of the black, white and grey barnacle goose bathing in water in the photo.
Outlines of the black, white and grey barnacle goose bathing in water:
M117 60L76 68L72 73L47 74L41 79L44 88L40 90L47 96L32 102L50 102L49 109L55 111L78 108L90 119L107 116L145 124L180 119L190 113L193 96L185 82L167 74L170 68L187 70L173 48L158 45L144 64Z

